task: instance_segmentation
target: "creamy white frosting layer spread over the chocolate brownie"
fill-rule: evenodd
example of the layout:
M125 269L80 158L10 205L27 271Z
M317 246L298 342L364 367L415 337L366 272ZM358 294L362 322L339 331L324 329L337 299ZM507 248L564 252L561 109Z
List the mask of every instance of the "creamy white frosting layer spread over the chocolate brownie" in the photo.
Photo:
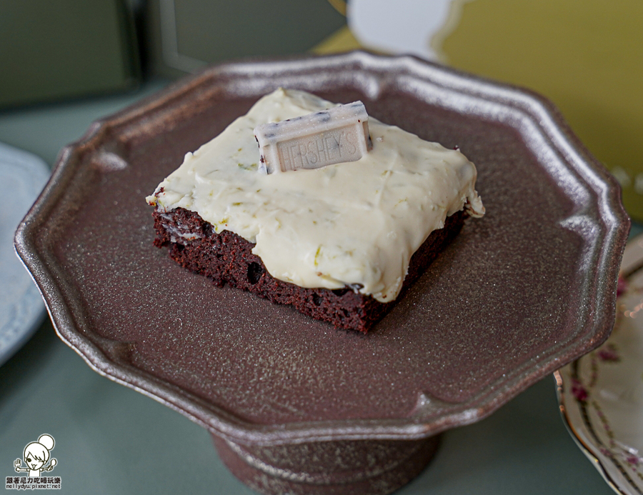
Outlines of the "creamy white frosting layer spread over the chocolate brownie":
M217 232L256 243L276 279L314 288L361 287L394 300L412 254L465 206L482 216L476 169L459 151L369 119L373 149L320 169L261 174L253 129L329 109L303 91L264 96L219 136L185 156L146 199L196 211ZM161 188L163 189L162 192Z

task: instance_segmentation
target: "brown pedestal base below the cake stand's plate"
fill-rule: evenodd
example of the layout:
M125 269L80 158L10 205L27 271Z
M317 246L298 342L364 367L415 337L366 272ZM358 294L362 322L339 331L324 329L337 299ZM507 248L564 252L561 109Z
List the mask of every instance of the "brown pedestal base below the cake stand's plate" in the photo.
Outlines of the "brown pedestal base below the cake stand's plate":
M384 495L419 475L439 437L248 446L212 435L221 460L262 494Z

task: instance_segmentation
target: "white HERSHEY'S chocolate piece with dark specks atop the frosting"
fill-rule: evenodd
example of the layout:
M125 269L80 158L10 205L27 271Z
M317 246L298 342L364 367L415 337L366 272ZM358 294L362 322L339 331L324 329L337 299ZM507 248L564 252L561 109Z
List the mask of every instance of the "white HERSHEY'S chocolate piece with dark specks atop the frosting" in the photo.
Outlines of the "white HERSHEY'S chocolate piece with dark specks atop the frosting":
M362 101L261 124L254 137L261 154L259 171L264 174L357 161L373 147Z

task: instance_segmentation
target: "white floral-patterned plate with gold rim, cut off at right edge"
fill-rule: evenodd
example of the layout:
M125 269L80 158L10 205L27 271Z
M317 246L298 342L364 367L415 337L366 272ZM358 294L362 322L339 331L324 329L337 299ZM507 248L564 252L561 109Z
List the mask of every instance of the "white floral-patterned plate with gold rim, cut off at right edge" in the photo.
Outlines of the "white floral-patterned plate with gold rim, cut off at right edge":
M617 493L643 494L643 234L623 255L612 336L555 375L584 454Z

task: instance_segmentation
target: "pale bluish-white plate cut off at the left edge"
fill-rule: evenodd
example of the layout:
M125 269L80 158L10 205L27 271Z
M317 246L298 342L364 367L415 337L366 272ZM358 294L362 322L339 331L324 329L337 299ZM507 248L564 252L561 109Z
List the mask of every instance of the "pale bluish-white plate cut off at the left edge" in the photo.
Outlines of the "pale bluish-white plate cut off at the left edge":
M47 179L44 161L0 143L0 365L29 339L45 314L38 288L14 251L14 232Z

